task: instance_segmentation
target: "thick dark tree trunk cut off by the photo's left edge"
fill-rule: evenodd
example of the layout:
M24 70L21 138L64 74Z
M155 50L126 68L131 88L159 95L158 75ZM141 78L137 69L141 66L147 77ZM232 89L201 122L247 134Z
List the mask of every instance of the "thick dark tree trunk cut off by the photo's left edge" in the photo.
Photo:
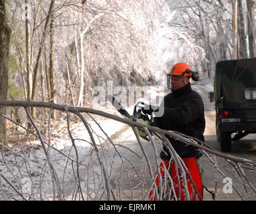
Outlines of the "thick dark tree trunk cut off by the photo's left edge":
M5 1L0 1L0 100L7 100L9 43L11 29L5 19ZM5 107L0 107L0 114L5 114ZM7 144L6 121L0 116L0 142Z

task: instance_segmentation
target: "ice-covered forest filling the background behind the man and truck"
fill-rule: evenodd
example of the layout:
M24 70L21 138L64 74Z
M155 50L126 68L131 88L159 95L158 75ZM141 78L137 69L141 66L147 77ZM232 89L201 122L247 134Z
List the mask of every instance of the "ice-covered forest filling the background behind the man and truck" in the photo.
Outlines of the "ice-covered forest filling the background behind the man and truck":
M255 57L253 0L1 0L0 8L2 100L90 107L92 89L109 80L164 85L181 61L212 79L216 62ZM19 120L8 111L0 114ZM5 143L2 117L0 131Z

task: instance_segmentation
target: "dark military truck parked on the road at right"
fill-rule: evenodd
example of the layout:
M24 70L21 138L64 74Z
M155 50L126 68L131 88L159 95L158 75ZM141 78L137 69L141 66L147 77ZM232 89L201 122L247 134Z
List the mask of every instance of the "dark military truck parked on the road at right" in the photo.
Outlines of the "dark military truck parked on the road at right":
M208 95L215 102L216 136L222 152L231 151L231 141L256 133L256 58L218 62L214 92Z

